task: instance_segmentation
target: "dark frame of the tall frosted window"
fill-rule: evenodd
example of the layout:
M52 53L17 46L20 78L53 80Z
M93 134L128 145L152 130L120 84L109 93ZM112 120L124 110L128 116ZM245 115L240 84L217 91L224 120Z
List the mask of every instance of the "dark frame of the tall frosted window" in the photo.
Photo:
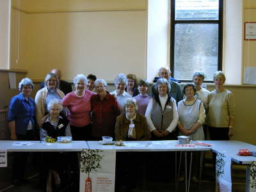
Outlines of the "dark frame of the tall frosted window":
M170 70L174 77L174 44L175 44L175 24L218 24L218 70L222 70L222 55L223 55L223 0L219 0L219 20L175 20L175 0L171 1L170 14ZM179 79L179 81L188 83L191 80ZM212 83L212 80L205 80L204 83Z

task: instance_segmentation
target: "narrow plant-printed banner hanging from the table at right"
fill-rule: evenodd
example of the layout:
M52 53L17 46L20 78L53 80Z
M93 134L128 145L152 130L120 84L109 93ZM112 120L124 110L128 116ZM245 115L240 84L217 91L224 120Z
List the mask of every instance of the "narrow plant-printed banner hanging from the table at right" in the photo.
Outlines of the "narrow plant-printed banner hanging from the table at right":
M231 157L220 152L216 157L216 177L220 185L220 192L232 192Z

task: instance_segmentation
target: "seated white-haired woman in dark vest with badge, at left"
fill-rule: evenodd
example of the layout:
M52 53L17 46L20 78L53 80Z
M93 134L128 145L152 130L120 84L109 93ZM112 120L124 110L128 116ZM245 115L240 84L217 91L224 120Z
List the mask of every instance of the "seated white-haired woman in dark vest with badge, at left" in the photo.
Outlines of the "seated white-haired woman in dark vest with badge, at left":
M45 140L46 136L54 139L57 139L58 136L71 136L67 118L60 116L62 108L61 101L58 99L52 99L48 103L47 109L49 111L49 116L40 129L41 140ZM54 177L55 185L60 186L59 174L65 166L63 163L65 155L60 152L47 152L44 153L43 159L44 165L46 166L44 170L47 172L46 191L51 191L52 176Z

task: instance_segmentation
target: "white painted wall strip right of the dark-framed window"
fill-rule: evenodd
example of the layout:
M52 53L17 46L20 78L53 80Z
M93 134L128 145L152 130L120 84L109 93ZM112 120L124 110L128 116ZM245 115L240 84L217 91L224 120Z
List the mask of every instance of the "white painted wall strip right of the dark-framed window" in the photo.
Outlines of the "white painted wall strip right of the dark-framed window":
M243 1L226 0L223 25L223 71L227 84L241 84Z

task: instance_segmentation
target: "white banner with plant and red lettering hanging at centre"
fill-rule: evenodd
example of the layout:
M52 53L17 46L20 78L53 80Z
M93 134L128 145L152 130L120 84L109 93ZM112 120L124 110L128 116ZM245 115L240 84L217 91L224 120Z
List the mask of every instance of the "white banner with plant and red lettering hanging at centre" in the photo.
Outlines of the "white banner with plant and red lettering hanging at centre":
M115 191L115 150L90 150L81 152L80 192Z

